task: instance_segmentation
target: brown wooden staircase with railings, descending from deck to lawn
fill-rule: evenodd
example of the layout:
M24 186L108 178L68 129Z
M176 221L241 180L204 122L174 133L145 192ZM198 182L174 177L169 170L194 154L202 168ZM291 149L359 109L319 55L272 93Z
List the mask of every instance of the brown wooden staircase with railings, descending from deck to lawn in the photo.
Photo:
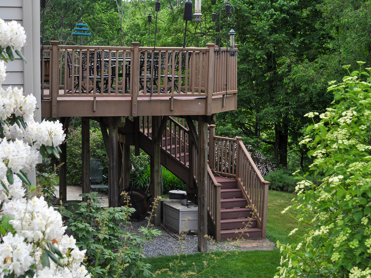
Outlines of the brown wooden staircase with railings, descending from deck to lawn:
M127 118L119 133L134 130L134 145L153 155L151 120L135 123ZM197 148L191 125L185 119L168 118L161 140L161 164L187 185L187 193L197 194ZM196 122L197 125L197 122ZM193 130L197 130L193 126ZM265 238L267 190L264 181L242 138L223 138L209 131L209 164L207 180L208 224L216 241L236 238ZM215 155L210 155L215 153ZM214 173L211 171L214 170ZM224 177L223 177L224 176Z

